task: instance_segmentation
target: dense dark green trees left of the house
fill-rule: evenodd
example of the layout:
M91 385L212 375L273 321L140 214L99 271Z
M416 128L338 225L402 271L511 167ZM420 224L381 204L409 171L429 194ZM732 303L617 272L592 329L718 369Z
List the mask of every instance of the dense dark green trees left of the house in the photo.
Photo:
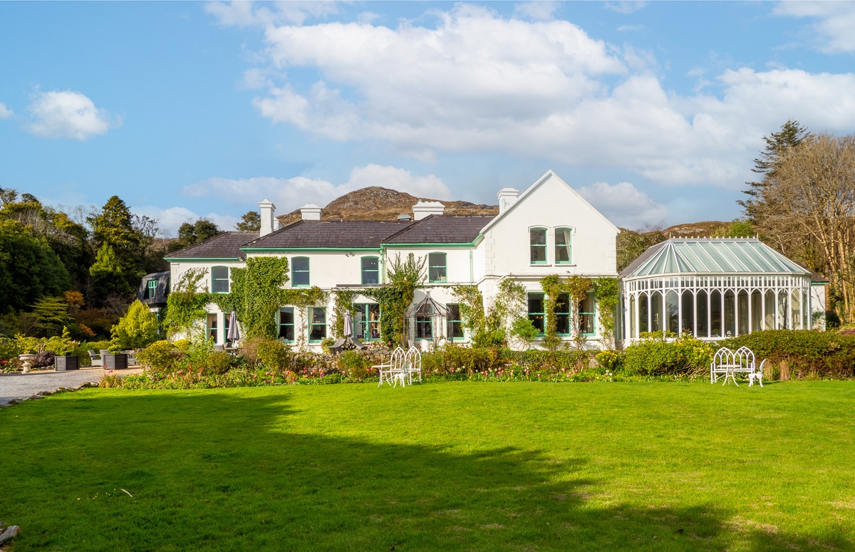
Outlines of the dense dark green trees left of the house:
M238 229L258 223L251 211ZM163 238L156 220L133 214L118 196L69 213L0 188L0 337L58 335L63 326L75 339L107 337L140 279L168 270L164 255L222 232L199 219Z

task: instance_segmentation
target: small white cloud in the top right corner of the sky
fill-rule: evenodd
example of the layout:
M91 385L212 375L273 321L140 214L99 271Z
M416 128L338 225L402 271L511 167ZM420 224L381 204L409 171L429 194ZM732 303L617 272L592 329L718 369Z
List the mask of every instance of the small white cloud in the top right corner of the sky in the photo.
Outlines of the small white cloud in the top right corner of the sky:
M851 2L781 2L775 15L807 17L819 50L829 54L855 51L855 3Z

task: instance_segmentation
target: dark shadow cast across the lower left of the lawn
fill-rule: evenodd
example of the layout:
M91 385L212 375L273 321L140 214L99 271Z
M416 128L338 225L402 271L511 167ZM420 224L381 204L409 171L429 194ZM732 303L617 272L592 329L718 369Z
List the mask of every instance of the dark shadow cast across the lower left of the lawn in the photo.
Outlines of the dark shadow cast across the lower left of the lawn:
M574 475L584 459L369 443L334 435L340 428L322 419L312 433L295 432L286 393L80 393L3 414L13 410L38 418L5 441L12 454L0 460L0 473L17 473L14 486L0 479L13 489L0 496L0 519L24 527L15 552L820 546L748 520L733 525L715 507L594 504L588 493L598 482ZM122 488L134 497L113 491ZM843 537L823 539L852 548Z

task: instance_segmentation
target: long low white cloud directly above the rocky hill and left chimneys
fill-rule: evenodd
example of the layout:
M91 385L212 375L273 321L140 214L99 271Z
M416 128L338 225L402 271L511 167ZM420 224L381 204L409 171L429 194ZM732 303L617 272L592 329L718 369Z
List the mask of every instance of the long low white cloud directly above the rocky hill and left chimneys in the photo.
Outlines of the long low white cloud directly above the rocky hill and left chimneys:
M416 197L432 199L451 199L451 191L442 179L430 174L413 176L410 171L398 167L386 167L370 164L356 167L351 171L350 179L340 185L327 180L307 179L302 176L290 179L256 177L251 179L206 179L184 188L183 192L191 197L220 197L231 203L248 208L257 206L262 199L276 204L279 214L291 212L306 203L324 206L336 197L350 191L368 186L381 186L392 190L405 191Z

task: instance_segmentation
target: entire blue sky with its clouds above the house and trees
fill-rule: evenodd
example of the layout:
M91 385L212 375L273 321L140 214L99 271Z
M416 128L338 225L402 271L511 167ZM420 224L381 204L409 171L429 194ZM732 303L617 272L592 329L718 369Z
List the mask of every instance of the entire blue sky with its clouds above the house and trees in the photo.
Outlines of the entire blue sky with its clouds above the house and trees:
M0 3L0 186L166 233L556 171L620 226L729 220L787 119L855 130L855 3Z

